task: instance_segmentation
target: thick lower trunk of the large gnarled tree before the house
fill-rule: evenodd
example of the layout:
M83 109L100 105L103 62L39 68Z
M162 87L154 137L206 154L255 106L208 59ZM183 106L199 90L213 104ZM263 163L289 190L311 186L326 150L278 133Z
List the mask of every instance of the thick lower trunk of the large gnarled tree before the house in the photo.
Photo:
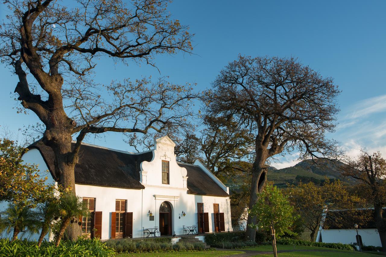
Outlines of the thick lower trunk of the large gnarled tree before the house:
M48 133L46 132L46 134ZM70 192L76 195L74 167L78 162L78 158L71 159L71 134L68 132L51 132L51 135L52 134L54 134L54 137L51 137L51 140L47 141L47 145L50 145L54 150L55 174L59 180L58 182L62 189L68 188ZM75 223L69 224L67 227L67 235L70 240L78 239L81 235L81 227Z

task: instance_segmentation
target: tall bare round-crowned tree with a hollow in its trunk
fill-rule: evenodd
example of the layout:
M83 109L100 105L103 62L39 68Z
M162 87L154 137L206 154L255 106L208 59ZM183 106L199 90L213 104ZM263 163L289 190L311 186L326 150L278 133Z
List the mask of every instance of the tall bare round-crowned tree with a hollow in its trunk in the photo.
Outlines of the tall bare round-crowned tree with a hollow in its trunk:
M337 143L325 134L334 131L339 92L332 78L294 58L239 56L220 71L207 94L208 113L232 115L254 135L250 209L264 188L267 158L294 149L303 158L336 157ZM248 216L246 240L255 239L251 224L256 216Z

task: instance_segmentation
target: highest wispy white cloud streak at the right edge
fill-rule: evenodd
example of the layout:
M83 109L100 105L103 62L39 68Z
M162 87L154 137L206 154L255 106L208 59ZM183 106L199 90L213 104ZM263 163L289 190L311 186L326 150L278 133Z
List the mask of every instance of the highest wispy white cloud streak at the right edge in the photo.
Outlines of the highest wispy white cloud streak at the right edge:
M346 118L356 119L369 115L371 113L379 113L386 111L386 95L375 96L372 98L367 98L365 100L357 102L353 108L352 112L347 115Z

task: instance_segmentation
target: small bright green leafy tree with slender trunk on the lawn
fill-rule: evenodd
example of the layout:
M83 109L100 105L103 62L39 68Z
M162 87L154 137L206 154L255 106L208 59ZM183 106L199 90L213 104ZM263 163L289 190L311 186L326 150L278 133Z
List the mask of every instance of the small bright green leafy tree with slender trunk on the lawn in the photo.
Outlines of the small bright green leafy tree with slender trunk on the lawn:
M276 235L292 234L289 228L297 218L288 198L276 186L267 184L249 213L258 217L257 224L252 224L252 228L271 230L273 253L278 256Z

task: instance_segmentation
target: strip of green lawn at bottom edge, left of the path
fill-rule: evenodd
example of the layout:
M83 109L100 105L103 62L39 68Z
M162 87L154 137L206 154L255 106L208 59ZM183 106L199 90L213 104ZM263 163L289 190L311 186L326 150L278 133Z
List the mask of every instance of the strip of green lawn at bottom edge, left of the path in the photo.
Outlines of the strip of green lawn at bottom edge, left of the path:
M224 256L224 255L232 255L232 254L244 254L241 251L202 251L202 252L147 252L141 254L117 254L117 257L139 257L139 256L147 256L147 257L159 257L159 256L178 256L178 257L205 257L205 256Z

